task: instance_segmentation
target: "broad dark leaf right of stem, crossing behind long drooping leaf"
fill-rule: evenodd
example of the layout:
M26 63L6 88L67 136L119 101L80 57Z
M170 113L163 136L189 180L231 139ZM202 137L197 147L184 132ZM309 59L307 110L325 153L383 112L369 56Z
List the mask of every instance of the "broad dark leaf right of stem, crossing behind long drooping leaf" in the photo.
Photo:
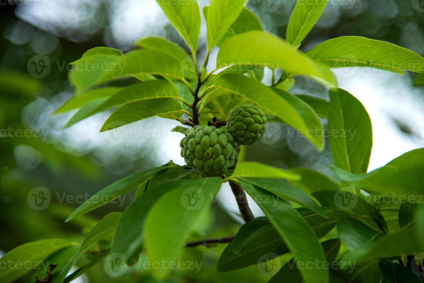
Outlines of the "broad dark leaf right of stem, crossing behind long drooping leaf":
M308 224L314 230L318 238L321 238L322 236L326 235L330 230L332 230L335 227L338 219L345 215L339 211L329 210L326 211L329 215L329 218L326 219L320 214L311 212L312 211L307 212L305 215L303 215L303 218L306 220L306 222L308 222ZM257 219L254 219L251 222L256 221ZM256 233L256 230L252 231L252 233L255 234L252 237L242 234L243 231L247 231L245 229L241 230L240 228L236 238L234 238L234 240L226 247L221 257L219 258L218 271L231 271L252 264L257 264L259 258L261 258L262 255L268 252L274 252L278 255L289 252L286 244L281 239L281 236L273 227L271 222L269 222L268 219L265 220L263 218L261 221L268 221L268 224L264 223L262 228L257 231L258 233ZM246 223L245 225L248 225L248 223ZM238 243L239 240L237 240L237 237L241 241L244 241L243 239L246 239L246 237L248 237L248 241L246 241L245 243ZM234 245L236 246L236 248L234 248ZM240 247L237 247L239 245L243 245L241 250Z

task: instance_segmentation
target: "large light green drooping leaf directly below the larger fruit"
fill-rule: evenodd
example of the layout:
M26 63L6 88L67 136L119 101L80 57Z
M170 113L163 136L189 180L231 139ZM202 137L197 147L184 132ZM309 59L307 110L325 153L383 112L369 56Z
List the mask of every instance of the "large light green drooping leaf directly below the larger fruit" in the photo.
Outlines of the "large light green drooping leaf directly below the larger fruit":
M153 205L144 228L146 249L152 262L178 260L190 231L209 209L219 187L218 177L190 181L164 194ZM152 270L159 278L168 272L169 269Z

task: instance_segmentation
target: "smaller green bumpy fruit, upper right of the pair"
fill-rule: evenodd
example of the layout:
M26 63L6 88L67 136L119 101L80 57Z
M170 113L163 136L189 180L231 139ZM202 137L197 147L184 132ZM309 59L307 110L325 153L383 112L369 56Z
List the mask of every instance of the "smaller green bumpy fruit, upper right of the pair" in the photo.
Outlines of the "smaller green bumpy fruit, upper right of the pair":
M261 109L255 105L242 104L231 109L226 128L237 143L248 145L265 135L266 122Z

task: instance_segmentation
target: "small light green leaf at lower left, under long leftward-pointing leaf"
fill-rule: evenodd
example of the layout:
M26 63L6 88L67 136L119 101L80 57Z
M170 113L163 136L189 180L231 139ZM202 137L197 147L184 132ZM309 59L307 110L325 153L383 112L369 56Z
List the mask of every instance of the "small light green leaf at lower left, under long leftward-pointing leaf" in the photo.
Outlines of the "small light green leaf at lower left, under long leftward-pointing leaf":
M114 233L115 228L118 224L119 218L121 217L122 212L111 212L104 216L94 228L87 234L84 241L81 244L81 249L85 250L91 244L104 239L106 236Z

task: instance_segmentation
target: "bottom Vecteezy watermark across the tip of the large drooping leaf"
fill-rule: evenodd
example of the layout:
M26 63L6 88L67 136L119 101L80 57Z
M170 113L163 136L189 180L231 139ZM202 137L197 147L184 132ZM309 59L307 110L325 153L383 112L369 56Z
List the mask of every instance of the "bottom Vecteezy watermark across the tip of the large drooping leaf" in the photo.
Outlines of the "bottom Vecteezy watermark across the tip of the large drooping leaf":
M199 273L203 265L203 261L148 261L143 258L131 259L131 265L137 270L193 270L194 273ZM118 277L125 274L128 269L127 257L120 252L114 252L103 261L103 267L107 274L112 277Z

